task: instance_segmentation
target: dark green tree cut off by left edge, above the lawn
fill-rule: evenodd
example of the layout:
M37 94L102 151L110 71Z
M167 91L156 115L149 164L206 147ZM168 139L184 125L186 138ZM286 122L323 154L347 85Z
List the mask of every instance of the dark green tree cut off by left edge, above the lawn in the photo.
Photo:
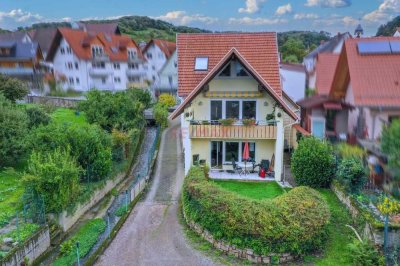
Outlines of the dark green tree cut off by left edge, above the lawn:
M0 167L13 165L26 152L28 118L0 93Z

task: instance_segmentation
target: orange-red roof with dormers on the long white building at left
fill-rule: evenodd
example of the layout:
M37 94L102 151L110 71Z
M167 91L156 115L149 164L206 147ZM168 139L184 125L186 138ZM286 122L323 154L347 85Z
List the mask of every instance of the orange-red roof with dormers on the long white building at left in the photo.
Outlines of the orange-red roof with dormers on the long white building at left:
M91 46L93 45L102 46L104 53L109 56L111 61L127 61L127 48L135 48L139 58L144 59L135 41L126 35L105 33L93 35L83 30L60 28L56 40L49 51L48 60L52 61L62 38L68 42L74 54L83 60L92 59Z

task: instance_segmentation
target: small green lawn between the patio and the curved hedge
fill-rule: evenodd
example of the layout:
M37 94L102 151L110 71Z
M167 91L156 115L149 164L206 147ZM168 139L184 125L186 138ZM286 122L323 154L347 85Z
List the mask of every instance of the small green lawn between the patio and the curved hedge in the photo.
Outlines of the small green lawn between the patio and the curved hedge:
M222 180L213 182L224 189L256 200L272 199L285 192L276 182L240 182Z

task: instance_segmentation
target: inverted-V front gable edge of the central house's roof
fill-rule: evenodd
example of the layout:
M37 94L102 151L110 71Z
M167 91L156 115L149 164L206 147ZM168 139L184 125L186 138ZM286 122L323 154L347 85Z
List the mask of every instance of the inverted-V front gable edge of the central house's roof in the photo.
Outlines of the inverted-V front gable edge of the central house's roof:
M179 53L179 50L178 50ZM267 91L272 98L276 100L277 103L283 108L283 110L290 115L293 119L297 120L297 115L290 109L290 107L284 102L281 98L281 95L278 95L275 90L271 88L271 86L262 78L262 76L253 68L252 65L239 53L236 48L232 48L225 54L222 59L214 66L214 68L208 72L208 74L197 84L194 90L185 98L183 103L179 105L179 107L171 114L171 118L174 119L178 117L185 109L185 107L204 89L204 86L207 85L222 69L226 64L229 63L233 58L237 59L243 67L249 72L250 75L253 76Z

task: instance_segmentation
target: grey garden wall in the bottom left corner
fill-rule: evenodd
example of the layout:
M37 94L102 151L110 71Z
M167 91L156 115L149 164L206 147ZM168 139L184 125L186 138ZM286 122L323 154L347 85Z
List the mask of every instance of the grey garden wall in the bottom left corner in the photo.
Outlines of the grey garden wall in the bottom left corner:
M50 247L49 227L43 227L31 238L26 240L23 246L10 251L0 262L2 266L19 266L27 257L31 263Z

